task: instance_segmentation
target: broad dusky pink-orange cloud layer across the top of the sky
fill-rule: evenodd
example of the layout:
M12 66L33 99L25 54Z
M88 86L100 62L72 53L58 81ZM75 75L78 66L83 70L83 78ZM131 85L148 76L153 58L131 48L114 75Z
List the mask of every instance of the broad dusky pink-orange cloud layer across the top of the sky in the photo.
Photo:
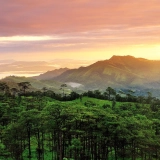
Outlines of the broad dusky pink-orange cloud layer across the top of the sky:
M0 5L0 35L48 35L111 25L159 25L159 0L7 0Z

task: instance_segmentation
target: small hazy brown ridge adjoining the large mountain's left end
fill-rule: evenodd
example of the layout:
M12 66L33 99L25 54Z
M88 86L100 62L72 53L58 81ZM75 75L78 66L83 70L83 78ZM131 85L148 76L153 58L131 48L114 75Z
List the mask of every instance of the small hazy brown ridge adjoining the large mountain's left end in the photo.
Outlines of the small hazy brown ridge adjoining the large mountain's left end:
M49 79L53 79L54 77L61 75L63 72L67 70L69 69L68 68L55 69L53 71L48 71L46 73L40 74L39 76L34 76L32 78L37 79L37 80L49 80Z

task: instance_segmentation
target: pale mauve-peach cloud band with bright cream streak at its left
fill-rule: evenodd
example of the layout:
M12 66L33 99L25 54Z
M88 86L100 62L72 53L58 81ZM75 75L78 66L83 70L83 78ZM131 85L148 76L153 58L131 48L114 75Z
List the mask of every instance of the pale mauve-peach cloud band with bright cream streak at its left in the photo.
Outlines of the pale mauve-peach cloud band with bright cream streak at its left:
M108 45L139 45L158 43L159 26L128 27L125 25L108 26L107 29L86 32L63 33L59 36L13 36L0 37L0 51L7 52L51 52L76 51L80 49L103 47Z

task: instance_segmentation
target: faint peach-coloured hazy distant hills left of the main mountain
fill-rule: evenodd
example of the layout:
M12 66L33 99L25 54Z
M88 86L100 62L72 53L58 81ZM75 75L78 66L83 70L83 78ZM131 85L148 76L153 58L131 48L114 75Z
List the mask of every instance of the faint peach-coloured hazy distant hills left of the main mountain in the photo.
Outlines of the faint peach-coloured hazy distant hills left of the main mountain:
M58 68L78 68L92 64L90 60L54 59L47 61L15 61L13 59L0 60L0 79L10 76L37 76L46 71Z

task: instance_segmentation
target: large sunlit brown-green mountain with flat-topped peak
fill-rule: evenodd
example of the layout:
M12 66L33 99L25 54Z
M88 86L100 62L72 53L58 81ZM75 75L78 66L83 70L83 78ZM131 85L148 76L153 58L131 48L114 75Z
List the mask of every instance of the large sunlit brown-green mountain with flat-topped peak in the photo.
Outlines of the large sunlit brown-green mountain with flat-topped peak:
M86 89L104 89L108 86L160 88L159 66L160 61L113 56L87 67L67 70L53 79L62 83L79 83Z

